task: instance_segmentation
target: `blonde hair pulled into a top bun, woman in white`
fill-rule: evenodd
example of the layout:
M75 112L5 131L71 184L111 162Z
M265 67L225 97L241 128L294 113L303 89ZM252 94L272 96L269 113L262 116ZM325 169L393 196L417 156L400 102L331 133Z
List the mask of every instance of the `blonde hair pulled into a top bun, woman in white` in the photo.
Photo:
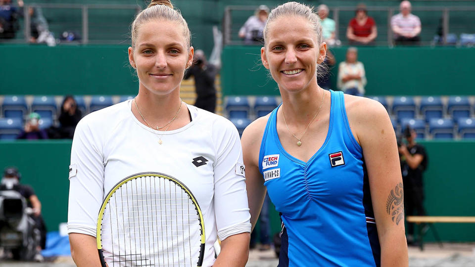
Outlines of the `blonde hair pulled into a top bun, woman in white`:
M191 46L191 34L190 28L188 28L187 21L183 18L180 11L173 8L173 4L170 0L151 0L147 8L143 9L132 22L131 27L131 39L132 47L135 48L135 40L139 35L140 26L143 23L151 21L153 19L165 19L169 21L175 21L183 26L185 39L187 40L187 48Z

